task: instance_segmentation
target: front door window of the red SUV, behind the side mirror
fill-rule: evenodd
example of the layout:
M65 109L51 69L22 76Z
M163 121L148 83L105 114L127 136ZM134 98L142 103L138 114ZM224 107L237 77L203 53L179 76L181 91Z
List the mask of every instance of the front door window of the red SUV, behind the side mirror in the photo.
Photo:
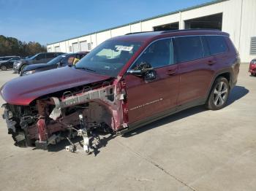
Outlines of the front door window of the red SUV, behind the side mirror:
M154 42L140 55L134 63L135 69L140 63L149 63L153 68L159 68L173 64L173 43L171 39L162 39Z

